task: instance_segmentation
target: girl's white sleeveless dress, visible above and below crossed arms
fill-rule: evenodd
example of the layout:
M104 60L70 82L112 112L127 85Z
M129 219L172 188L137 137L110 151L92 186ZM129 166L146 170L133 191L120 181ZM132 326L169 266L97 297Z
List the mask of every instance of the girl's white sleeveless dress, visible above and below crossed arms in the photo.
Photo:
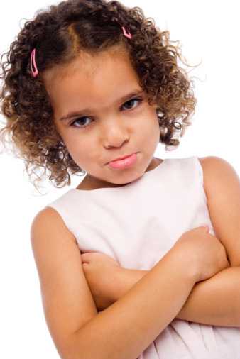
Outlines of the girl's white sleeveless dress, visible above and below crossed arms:
M151 270L175 241L208 224L214 233L200 161L168 158L122 187L70 189L48 204L84 252L121 267ZM240 359L240 328L173 319L138 359Z

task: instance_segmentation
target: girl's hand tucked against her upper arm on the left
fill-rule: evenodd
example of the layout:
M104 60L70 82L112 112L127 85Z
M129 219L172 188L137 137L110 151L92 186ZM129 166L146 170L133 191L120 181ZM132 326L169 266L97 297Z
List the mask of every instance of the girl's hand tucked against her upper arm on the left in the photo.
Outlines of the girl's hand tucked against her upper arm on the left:
M84 275L97 309L104 310L114 303L114 288L121 267L104 253L82 253L81 257Z

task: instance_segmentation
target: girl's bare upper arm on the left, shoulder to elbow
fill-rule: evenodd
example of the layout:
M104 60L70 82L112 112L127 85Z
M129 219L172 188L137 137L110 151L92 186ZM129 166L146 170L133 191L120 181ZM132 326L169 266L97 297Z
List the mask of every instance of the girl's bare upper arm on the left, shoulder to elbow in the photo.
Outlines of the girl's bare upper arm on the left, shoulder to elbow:
M31 244L50 335L61 358L73 357L77 331L98 314L76 238L60 214L45 207L33 219Z

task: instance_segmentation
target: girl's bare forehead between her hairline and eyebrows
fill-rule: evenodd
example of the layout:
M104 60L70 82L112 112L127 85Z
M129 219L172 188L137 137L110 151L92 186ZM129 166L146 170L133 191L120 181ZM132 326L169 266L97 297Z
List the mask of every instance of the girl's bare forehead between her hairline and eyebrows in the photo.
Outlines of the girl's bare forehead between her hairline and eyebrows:
M138 84L126 53L82 54L69 65L58 66L43 74L45 87L55 114L110 106Z

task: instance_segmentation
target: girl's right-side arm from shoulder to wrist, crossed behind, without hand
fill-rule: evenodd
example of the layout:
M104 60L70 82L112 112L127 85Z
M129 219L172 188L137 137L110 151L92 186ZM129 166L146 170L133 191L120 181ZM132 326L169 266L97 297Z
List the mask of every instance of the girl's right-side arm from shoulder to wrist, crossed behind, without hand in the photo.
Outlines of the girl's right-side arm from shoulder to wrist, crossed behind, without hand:
M215 326L240 327L240 180L229 162L200 158L204 191L214 232L227 251L228 267L197 282L176 318ZM123 296L148 271L120 271L114 301Z

